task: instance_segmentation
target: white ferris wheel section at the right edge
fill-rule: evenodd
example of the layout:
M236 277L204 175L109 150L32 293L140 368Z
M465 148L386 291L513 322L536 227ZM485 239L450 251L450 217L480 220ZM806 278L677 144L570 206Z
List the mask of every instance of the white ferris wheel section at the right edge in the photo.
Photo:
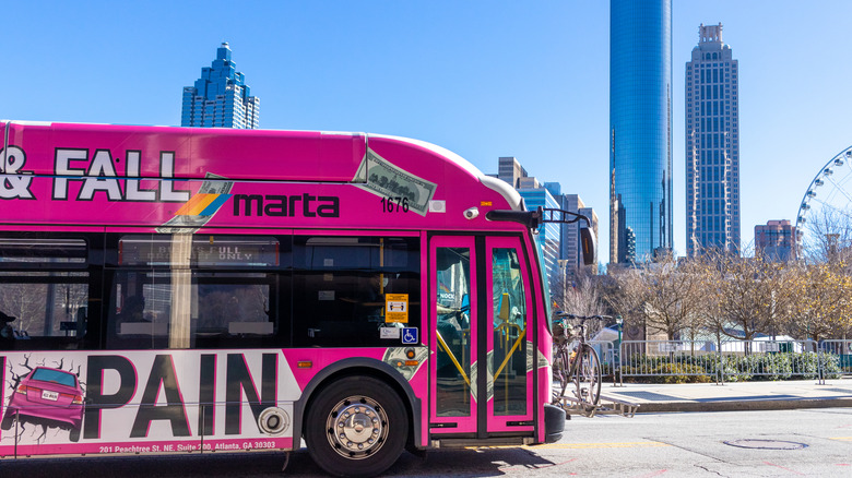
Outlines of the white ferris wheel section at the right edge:
M829 218L852 223L852 146L829 159L807 187L796 216L800 246L808 224Z

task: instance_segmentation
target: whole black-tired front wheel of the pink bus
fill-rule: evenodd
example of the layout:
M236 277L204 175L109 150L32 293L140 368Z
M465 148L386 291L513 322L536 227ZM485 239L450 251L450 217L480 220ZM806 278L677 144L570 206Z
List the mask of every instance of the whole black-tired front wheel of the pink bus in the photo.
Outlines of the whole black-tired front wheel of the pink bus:
M405 406L387 383L370 377L335 380L310 404L305 443L317 465L341 477L390 468L409 435Z

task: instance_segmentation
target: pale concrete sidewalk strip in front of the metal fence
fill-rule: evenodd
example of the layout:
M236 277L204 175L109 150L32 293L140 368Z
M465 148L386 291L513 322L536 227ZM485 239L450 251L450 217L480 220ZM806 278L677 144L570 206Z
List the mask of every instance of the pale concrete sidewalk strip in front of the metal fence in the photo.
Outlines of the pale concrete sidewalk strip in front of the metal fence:
M603 382L602 398L639 404L637 413L852 407L852 379L686 384Z

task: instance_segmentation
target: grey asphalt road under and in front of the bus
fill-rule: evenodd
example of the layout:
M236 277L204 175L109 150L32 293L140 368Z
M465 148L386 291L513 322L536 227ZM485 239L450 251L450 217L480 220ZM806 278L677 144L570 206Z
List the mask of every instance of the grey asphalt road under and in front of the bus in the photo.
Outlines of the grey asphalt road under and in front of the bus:
M575 417L551 445L405 454L394 477L849 477L852 408ZM303 450L284 474L281 454L24 459L0 462L0 476L312 477Z

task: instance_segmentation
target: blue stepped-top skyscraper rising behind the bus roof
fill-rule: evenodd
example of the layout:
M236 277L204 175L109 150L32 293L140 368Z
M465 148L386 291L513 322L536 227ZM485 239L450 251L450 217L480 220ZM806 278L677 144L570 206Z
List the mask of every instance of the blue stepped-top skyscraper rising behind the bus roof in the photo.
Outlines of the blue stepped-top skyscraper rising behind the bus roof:
M259 123L260 98L250 95L246 79L230 60L228 44L222 44L196 85L184 87L180 126L257 129Z

